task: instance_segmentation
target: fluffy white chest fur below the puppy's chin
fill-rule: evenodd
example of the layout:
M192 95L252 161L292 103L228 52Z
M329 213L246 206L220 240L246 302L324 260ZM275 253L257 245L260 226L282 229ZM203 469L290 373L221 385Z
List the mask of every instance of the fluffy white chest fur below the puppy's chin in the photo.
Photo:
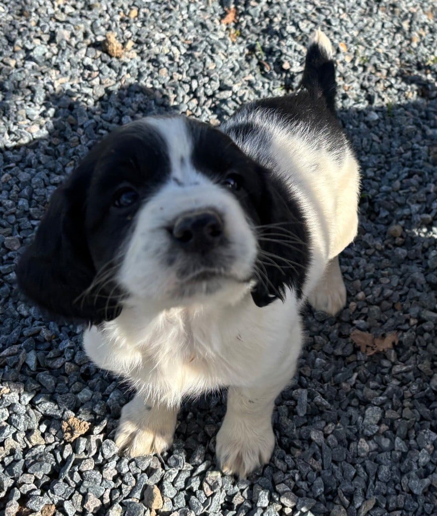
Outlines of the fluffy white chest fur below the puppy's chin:
M123 310L84 334L97 365L126 377L144 398L170 406L223 386L268 383L272 375L290 379L300 344L292 293L263 309L248 295L233 307L172 309L149 320Z

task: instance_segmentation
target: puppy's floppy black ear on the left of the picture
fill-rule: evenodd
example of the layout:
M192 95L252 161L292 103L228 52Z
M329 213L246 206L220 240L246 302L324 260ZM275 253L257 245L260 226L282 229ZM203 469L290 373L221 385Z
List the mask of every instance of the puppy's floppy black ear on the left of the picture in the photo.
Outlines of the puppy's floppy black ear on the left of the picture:
M20 289L42 309L67 319L98 324L114 318L118 309L103 295L83 296L96 273L84 228L92 168L92 160L85 159L53 193L16 273Z

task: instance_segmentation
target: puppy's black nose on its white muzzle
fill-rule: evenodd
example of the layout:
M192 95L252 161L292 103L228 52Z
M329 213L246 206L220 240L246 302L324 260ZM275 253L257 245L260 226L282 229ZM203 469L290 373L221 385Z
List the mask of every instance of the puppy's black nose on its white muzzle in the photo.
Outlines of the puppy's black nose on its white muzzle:
M213 211L188 213L176 220L171 234L188 249L207 250L219 244L223 222Z

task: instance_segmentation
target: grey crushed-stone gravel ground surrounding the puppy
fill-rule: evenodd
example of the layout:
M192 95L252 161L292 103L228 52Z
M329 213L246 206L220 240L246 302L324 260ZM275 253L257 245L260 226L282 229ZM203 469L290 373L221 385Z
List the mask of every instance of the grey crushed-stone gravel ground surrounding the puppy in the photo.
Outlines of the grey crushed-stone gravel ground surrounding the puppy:
M6 514L391 516L437 512L437 37L431 0L0 2L0 510ZM187 402L163 457L118 457L132 395L86 358L80 328L14 290L54 188L112 127L157 112L218 124L296 87L320 26L363 169L341 260L348 308L308 309L299 372L277 400L270 464L215 469L224 397ZM102 45L108 31L123 46ZM103 50L106 49L106 50ZM117 54L111 57L107 52ZM398 332L367 356L350 334Z

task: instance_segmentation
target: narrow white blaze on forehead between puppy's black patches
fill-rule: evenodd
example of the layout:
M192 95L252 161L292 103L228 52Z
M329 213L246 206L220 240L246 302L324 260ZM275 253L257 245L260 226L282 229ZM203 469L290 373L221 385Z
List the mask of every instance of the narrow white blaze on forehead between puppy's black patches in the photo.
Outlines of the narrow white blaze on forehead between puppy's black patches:
M151 118L147 120L167 144L171 179L188 185L199 180L191 163L192 138L182 117Z

